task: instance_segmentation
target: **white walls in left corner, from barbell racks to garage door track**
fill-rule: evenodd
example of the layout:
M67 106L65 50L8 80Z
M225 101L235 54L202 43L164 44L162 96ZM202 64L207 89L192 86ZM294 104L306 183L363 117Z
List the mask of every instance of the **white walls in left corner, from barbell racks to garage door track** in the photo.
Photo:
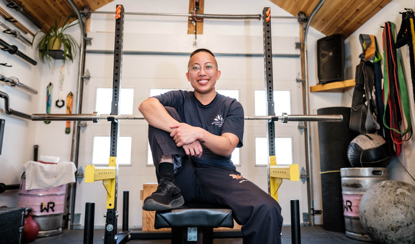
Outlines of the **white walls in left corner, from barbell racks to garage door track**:
M24 26L30 29L33 33L39 31L36 26L31 24L19 12L8 8L3 2L0 2L0 7L5 9L15 19L20 21ZM16 26L1 19L12 29L17 29ZM3 28L1 27L1 31ZM80 39L80 31L78 26L68 29L75 40ZM28 40L32 40L30 34L25 35ZM35 40L35 45L41 34L38 34ZM1 51L1 62L12 64L13 67L0 66L0 74L10 77L15 76L25 85L28 85L38 91L37 95L27 93L20 88L10 87L5 82L0 81L0 91L9 95L10 107L13 110L25 113L46 113L46 86L49 82L53 83L52 91L52 107L51 113L66 113L66 106L61 109L55 106L55 101L58 99L58 78L59 68L62 61L56 61L55 64L49 65L42 63L38 56L38 51L22 44L21 41L15 39L7 34L1 34L1 39L9 44L18 46L19 51L38 62L36 66L23 61L16 55L10 55L7 52ZM78 55L74 63L70 65L68 74L68 65L66 64L66 76L63 85L64 100L66 102L66 94L69 91L74 93L74 110L76 101L76 83L78 77ZM5 184L18 184L22 172L22 165L29 160L33 160L33 145L39 145L39 155L59 156L61 161L70 161L72 134L65 134L65 122L51 122L45 124L44 122L29 121L21 119L16 116L7 115L4 112L4 100L0 99L0 118L5 119L5 129L3 137L2 153L0 155L0 182ZM72 130L72 128L71 128ZM17 206L18 190L10 190L0 194L0 206L7 205L9 207Z

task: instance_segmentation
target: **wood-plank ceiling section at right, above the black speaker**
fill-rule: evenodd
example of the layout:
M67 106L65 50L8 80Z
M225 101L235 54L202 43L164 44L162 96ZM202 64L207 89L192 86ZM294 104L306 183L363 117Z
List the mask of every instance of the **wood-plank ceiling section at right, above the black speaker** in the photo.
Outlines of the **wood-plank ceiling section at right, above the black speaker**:
M293 16L302 11L307 17L319 0L270 0ZM391 0L326 0L311 26L326 36L350 36Z

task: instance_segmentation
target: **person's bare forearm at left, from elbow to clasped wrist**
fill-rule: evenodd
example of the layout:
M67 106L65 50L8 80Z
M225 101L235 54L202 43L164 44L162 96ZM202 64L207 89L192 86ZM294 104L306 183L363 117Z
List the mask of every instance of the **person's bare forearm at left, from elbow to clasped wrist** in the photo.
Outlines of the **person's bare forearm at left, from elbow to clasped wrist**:
M153 127L171 132L169 125L178 123L166 111L163 104L156 98L148 98L140 104L138 110L143 114L145 120Z

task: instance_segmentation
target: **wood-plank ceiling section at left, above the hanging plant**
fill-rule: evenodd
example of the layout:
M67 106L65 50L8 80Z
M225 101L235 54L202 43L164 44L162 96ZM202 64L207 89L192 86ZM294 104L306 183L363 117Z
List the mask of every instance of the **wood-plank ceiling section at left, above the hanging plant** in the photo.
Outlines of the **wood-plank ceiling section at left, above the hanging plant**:
M60 21L59 27L68 16L73 13L73 10L66 0L13 0L15 3L23 7L35 20L42 24L42 30L46 31L50 26L55 24L55 20ZM92 11L97 10L105 4L113 0L74 0L78 9L88 5ZM16 11L8 10L12 15L16 15ZM76 15L73 20L77 19Z

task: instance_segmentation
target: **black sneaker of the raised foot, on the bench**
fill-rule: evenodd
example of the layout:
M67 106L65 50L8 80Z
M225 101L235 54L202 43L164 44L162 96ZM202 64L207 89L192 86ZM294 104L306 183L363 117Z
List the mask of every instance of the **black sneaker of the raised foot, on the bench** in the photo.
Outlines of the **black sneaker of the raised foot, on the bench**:
M185 204L181 190L171 181L161 179L157 190L145 198L143 209L146 211L170 210Z

